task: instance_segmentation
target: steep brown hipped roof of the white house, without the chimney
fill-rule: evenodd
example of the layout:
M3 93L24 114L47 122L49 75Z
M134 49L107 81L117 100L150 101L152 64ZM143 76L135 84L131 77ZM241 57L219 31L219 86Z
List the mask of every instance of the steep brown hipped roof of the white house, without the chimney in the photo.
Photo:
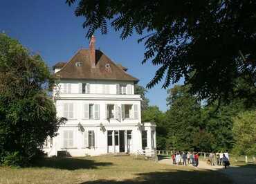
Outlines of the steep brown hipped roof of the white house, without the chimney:
M77 62L80 62L81 66L76 66ZM90 50L81 49L55 75L62 79L125 80L138 82L136 77L129 75L100 50L95 50L95 63L95 67L93 68L90 61ZM108 68L106 65L110 67Z

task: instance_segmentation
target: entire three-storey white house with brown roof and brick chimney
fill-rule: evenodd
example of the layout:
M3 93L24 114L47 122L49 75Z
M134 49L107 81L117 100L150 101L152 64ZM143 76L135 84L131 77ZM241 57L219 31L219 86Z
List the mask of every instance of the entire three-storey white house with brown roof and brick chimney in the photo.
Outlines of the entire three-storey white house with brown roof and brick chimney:
M69 62L53 66L60 86L55 89L58 117L68 121L44 145L48 156L108 153L136 154L156 147L156 125L141 122L138 79L115 64L100 50L95 37L89 49L81 49Z

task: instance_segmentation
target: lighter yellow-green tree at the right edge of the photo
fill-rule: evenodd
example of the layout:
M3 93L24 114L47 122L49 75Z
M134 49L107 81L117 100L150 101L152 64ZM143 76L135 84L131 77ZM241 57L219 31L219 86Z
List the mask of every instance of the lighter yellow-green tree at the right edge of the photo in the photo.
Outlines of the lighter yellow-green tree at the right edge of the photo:
M235 154L254 155L256 153L256 111L245 111L234 118L232 128Z

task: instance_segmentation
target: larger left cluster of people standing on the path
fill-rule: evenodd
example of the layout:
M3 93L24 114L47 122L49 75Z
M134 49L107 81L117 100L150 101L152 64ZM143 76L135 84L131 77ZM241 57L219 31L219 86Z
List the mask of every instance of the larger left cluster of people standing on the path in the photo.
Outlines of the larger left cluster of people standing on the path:
M190 153L179 151L172 154L172 164L174 165L193 165L197 167L199 165L199 153Z

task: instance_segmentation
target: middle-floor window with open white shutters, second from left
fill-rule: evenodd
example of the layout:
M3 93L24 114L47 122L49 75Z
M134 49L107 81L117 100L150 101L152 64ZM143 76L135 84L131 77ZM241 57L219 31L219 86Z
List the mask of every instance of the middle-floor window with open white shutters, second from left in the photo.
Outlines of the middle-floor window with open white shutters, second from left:
M84 119L99 120L100 104L84 104Z

